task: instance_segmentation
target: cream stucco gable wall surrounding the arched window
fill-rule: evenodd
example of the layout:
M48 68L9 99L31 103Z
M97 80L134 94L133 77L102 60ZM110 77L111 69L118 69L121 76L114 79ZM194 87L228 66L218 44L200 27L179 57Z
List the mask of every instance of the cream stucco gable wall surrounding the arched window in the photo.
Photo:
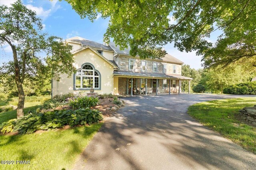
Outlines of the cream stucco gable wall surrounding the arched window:
M92 64L98 72L100 72L100 90L95 90L98 94L113 93L113 66L107 63L104 59L96 55L90 49L85 49L74 54L75 63L73 64L77 69L81 68L82 64ZM60 81L53 80L53 96L57 94L66 94L72 92L79 94L80 92L86 94L90 90L74 90L74 75L70 78L66 74L60 76Z

